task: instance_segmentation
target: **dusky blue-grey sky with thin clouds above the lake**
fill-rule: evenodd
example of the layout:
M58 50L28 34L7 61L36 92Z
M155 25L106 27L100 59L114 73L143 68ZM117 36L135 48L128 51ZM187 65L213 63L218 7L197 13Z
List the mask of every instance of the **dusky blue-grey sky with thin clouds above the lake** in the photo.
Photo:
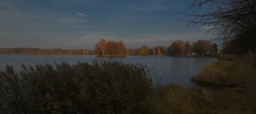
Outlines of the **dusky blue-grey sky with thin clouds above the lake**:
M191 0L0 0L0 48L94 49L101 39L126 48L194 42L207 27L187 28Z

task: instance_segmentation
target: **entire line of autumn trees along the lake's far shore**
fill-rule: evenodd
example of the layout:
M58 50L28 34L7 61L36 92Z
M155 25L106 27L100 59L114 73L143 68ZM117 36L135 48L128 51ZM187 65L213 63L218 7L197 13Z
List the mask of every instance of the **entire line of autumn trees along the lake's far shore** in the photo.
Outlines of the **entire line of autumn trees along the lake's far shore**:
M0 48L0 54L97 54L100 56L125 55L205 55L218 51L218 45L207 40L189 41L176 40L169 47L156 46L152 49L143 45L136 49L126 49L123 41L107 41L101 39L95 51L88 49L39 49L39 48Z

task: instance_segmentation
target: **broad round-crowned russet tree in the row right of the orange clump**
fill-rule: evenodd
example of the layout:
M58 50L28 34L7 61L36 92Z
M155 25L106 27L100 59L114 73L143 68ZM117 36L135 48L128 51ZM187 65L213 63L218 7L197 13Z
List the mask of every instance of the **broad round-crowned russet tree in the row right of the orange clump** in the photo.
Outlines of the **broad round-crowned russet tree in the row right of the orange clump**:
M169 47L169 54L185 55L186 46L183 41L176 40Z

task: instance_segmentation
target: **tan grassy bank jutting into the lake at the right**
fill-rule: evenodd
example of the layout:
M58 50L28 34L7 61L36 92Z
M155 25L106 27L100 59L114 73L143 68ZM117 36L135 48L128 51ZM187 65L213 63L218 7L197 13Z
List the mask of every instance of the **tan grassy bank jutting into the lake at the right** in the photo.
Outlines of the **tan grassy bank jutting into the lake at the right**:
M244 60L216 56L218 61L205 66L192 81L206 82L224 87L246 87L256 84L256 70Z

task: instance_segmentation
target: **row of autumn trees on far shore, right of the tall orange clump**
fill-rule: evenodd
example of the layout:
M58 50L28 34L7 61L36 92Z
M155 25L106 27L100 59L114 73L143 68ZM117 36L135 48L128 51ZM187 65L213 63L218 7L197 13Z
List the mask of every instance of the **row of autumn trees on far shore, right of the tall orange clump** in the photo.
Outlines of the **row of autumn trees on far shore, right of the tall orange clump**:
M169 47L160 45L149 49L148 46L143 45L139 49L127 49L126 55L205 55L217 51L218 45L207 40L198 40L192 44L189 41L176 40Z

